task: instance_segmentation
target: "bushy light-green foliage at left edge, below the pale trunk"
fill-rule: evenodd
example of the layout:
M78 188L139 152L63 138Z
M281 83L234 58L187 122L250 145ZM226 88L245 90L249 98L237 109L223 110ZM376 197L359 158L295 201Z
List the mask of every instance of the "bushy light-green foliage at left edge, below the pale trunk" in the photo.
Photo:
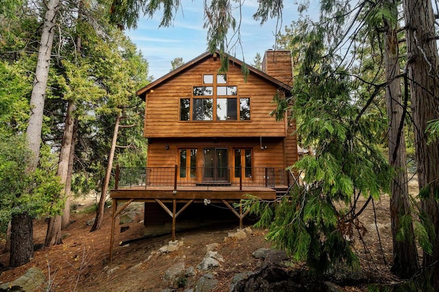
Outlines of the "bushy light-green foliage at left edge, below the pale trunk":
M62 190L54 171L40 167L27 173L31 157L22 136L1 134L0 141L0 229L12 215L31 217L59 214L64 202L56 200Z

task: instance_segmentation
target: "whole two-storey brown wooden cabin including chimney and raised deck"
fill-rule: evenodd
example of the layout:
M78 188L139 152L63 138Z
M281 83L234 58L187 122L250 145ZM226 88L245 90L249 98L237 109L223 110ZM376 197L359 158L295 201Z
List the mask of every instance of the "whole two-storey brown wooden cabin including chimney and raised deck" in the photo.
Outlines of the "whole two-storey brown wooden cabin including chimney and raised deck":
M113 230L118 202L145 202L145 224L164 212L174 239L176 217L192 203L219 202L241 221L245 214L230 203L246 194L275 199L289 186L295 124L270 113L274 95L290 95L291 53L266 51L263 71L248 66L246 76L243 62L228 56L228 64L219 73L219 53L206 52L137 91L145 101L147 163L117 169Z

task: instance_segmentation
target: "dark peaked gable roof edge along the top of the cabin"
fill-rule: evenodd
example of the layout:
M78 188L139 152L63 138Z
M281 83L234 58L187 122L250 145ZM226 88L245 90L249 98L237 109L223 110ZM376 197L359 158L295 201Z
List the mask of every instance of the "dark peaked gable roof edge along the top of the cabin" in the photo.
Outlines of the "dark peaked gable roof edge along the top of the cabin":
M241 60L238 60L237 58L234 58L233 56L230 56L227 53L225 53L225 54L228 57L228 60L229 60L228 62L232 62L233 64L238 64L241 67L244 65L244 62L242 62ZM182 71L186 71L187 69L191 68L192 66L195 66L199 62L202 62L206 58L209 58L209 57L215 58L216 56L218 56L217 58L219 58L219 51L215 51L215 53L211 53L210 51L206 51L206 52L202 53L200 56L198 56L198 57L190 60L189 62L183 64L182 66L178 67L177 69L167 73L166 75L163 75L162 77L158 78L157 80L154 80L154 82L151 82L147 86L137 90L136 94L137 94L137 96L141 97L141 99L145 100L146 93L148 90L162 84L163 82L166 82L167 80L169 80L169 78L174 77L175 75L178 75L178 73L180 73ZM255 75L258 75L259 77L262 77L263 79L267 80L268 82L276 84L277 86L285 89L285 91L287 91L287 93L291 92L291 90L292 90L291 86L289 86L283 82L280 82L276 78L274 78L266 73L263 73L262 71L254 68L253 66L250 66L248 64L246 64L246 66L248 67L248 71L250 73L254 73Z

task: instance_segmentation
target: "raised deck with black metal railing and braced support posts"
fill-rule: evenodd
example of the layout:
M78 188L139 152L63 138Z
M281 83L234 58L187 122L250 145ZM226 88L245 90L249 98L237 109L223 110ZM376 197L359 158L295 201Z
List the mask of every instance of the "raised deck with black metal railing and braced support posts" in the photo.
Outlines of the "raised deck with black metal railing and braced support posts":
M176 218L191 204L222 203L238 217L239 226L242 228L242 221L248 215L248 211L244 211L242 206L233 207L234 203L241 202L241 199L247 199L248 195L262 200L274 200L276 199L276 190L287 189L287 184L279 183L285 180L278 179L275 175L272 175L271 179L268 180L270 178L268 169L263 169L261 172L263 173L261 180L255 179L249 182L240 179L237 182L202 182L202 184L182 183L177 179L176 174L161 175L157 180L147 181L146 178L152 177L147 169L140 169L139 173L134 174L133 171L139 171L139 169L132 170L128 174L126 169L121 171L117 167L115 189L110 191L112 199L110 260L114 245L116 217L132 202L159 204L172 219L171 234L172 240L175 241ZM156 169L154 171L157 172ZM273 169L270 171L274 173ZM130 180L126 180L127 176L130 176ZM163 178L167 179L163 180ZM274 186L274 182L277 182L276 186ZM172 204L171 208L169 208L169 204ZM184 204L184 206L178 210L177 204L180 206Z

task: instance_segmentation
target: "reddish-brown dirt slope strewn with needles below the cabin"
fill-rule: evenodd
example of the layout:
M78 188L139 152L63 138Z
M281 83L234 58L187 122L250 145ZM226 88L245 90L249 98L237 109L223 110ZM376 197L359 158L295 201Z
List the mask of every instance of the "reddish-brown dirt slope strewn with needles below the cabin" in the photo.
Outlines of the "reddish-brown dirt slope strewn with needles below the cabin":
M414 186L411 188L413 193L416 192ZM373 212L374 206L376 212ZM41 291L162 291L173 285L163 280L167 268L181 261L185 262L185 267L196 267L206 254L206 245L219 243L217 251L224 257L224 262L213 270L215 278L219 280L215 291L229 291L235 274L257 269L258 260L252 257L252 252L261 247L270 247L270 242L265 240L268 230L254 228L246 239L224 241L228 232L236 231L238 220L236 225L178 232L176 239L182 241L183 245L169 254L160 254L158 250L171 240L170 235L134 241L125 246L117 245L121 241L143 236L143 218L139 216L128 224L130 228L126 232L121 233L120 226L117 226L114 256L110 264L110 208L105 210L102 228L95 232L89 232L91 226L87 225L87 222L89 224L93 221L95 213L84 212L86 208L87 205L79 206L73 212L73 223L64 230L66 237L62 240L62 245L37 250L27 265L3 270L0 283L18 278L29 267L39 267L51 283L49 287L42 287ZM358 238L355 241L355 249L361 258L361 271L351 274L351 278L357 281L351 281L351 286L343 285L345 291L366 291L368 281L397 280L389 272L392 262L389 214L388 196L383 196L379 202L368 204L362 213L360 220L367 232L363 241ZM375 220L378 222L377 226ZM44 221L34 221L34 243L44 243L46 228ZM3 247L4 241L1 241L0 250ZM9 254L0 254L1 265L7 267L8 259ZM189 288L194 288L196 280L204 273L197 269L195 271L195 276L187 282Z

